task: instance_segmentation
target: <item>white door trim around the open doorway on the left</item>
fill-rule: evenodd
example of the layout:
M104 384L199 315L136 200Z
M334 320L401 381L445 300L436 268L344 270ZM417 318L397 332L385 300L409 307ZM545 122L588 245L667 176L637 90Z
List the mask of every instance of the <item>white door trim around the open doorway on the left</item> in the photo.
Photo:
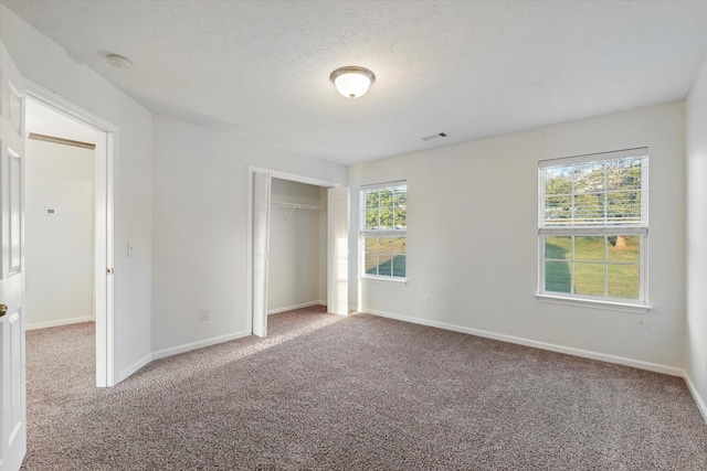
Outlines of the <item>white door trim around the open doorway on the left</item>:
M42 105L78 120L97 132L96 141L96 180L94 197L97 203L94 227L94 314L96 321L96 386L115 386L115 311L117 280L107 275L108 267L115 270L115 214L117 212L118 175L115 162L119 157L119 128L91 111L63 98L42 85L25 79L27 94ZM99 206L99 207L98 207Z

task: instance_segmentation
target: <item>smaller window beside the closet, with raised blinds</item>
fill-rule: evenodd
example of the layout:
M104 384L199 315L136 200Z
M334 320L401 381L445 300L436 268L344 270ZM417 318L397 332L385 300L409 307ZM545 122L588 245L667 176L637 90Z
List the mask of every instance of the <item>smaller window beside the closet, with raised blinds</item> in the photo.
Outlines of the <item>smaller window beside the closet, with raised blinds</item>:
M404 280L408 263L407 182L362 186L359 213L361 276Z

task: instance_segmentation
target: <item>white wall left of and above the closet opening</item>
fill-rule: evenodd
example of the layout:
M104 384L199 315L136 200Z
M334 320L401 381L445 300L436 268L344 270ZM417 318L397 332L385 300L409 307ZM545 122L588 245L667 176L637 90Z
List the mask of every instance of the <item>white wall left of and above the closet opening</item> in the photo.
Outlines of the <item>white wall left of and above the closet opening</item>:
M247 332L249 165L346 183L346 168L154 117L152 349L157 357ZM210 308L211 319L199 311Z

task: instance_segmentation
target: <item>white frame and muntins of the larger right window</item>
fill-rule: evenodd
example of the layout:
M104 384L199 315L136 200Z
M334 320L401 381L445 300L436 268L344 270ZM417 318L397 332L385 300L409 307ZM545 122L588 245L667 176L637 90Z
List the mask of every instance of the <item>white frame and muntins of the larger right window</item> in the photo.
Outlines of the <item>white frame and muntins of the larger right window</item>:
M604 211L603 223L587 224L580 221L578 224L574 216L568 220L568 224L547 224L545 218L546 212L546 180L545 172L548 168L566 167L571 168L589 162L605 162L609 160L619 160L625 158L641 158L641 218L640 221L631 221L629 224L620 224L616 220L609 220ZM648 304L648 149L637 148L622 151L602 152L593 154L584 154L569 157L562 159L541 160L538 162L538 285L536 297L540 301L562 303L570 306L582 306L605 310L625 311L634 313L645 313L651 309ZM604 185L602 191L604 202L608 194L611 193L609 188ZM572 186L572 199L578 194ZM572 205L573 211L577 211ZM635 220L635 216L634 216ZM637 236L640 240L640 253L637 264L622 264L619 261L610 261L608 250L608 237L611 236ZM546 237L571 237L571 257L566 261L570 264L570 292L549 291L546 289ZM574 242L577 237L604 237L604 259L603 260L576 260ZM552 261L551 259L549 261ZM576 293L574 288L574 267L576 264L597 264L604 267L604 295L583 295ZM609 292L609 267L616 265L637 265L639 267L639 298L627 299L611 297Z

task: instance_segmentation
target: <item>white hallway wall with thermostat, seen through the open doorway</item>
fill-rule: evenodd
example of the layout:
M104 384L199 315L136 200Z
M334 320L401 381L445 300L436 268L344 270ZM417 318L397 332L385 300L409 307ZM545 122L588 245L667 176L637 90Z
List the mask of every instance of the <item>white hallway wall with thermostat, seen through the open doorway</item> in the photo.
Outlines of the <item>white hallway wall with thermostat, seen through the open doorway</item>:
M95 151L29 139L25 153L27 328L93 320Z

